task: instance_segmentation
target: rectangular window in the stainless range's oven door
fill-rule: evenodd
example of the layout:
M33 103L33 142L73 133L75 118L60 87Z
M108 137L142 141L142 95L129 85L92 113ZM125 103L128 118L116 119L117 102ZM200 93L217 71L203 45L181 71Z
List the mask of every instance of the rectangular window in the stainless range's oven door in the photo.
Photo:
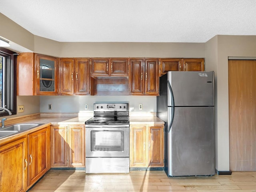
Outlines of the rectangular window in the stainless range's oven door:
M124 131L91 131L92 151L124 151Z

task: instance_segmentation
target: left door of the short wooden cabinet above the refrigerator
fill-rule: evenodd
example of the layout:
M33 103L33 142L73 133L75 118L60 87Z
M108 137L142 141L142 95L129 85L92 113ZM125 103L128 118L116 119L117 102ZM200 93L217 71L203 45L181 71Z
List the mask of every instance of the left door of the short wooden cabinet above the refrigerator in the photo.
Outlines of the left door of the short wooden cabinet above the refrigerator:
M182 59L180 58L164 58L160 59L160 76L168 71L182 71Z

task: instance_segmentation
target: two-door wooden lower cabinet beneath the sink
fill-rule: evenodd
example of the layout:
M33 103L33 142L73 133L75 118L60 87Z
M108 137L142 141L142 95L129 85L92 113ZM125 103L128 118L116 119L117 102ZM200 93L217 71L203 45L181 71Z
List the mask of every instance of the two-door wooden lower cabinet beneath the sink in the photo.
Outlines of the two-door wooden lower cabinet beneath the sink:
M0 146L0 191L25 192L50 169L50 126Z

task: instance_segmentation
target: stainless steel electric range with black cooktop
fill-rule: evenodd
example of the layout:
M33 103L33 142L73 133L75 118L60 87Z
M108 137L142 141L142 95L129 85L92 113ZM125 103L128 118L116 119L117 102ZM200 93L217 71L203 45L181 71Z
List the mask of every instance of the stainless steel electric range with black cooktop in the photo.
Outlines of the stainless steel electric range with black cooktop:
M87 173L129 172L129 128L128 103L94 103L85 122Z

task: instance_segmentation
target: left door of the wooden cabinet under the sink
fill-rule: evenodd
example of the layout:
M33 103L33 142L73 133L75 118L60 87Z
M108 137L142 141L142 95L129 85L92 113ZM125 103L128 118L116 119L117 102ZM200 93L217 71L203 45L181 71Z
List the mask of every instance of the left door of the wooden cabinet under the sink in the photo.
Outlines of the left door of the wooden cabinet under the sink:
M0 191L25 192L27 170L26 138L0 146Z

